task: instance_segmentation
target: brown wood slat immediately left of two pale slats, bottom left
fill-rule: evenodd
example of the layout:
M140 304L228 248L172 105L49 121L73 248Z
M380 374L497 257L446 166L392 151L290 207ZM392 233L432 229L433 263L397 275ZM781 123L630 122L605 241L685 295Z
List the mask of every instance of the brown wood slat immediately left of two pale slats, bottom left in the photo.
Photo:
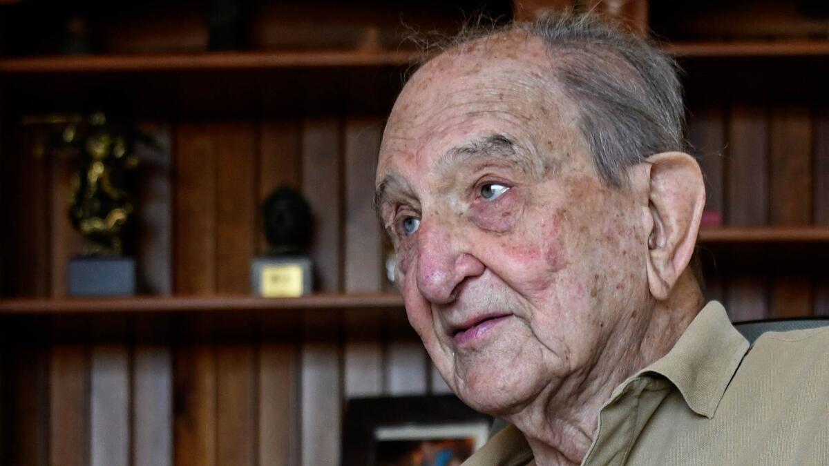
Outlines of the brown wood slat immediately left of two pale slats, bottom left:
M57 345L50 362L51 466L89 464L89 351L80 345Z

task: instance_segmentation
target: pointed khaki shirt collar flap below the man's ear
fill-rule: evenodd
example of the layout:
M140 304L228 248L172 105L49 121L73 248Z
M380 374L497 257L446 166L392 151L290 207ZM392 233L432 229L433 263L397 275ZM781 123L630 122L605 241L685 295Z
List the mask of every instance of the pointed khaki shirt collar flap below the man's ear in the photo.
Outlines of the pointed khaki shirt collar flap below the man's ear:
M748 350L749 342L731 325L722 304L711 301L671 351L638 375L666 377L691 410L710 419Z

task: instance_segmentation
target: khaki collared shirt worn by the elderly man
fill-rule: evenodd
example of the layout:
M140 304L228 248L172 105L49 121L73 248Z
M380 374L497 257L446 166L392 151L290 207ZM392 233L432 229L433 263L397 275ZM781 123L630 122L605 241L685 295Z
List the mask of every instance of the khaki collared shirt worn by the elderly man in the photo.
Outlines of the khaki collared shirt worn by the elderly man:
M464 466L532 460L510 425ZM829 328L749 342L711 302L618 386L582 464L829 464Z

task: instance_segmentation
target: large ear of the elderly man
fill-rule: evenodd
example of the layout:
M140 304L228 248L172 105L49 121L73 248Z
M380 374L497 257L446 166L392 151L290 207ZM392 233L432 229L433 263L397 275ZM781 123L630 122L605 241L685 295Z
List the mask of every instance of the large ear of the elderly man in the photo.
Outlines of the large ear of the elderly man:
M705 183L699 164L686 153L657 153L647 158L647 163L647 281L653 297L662 301L671 295L694 254L705 206Z

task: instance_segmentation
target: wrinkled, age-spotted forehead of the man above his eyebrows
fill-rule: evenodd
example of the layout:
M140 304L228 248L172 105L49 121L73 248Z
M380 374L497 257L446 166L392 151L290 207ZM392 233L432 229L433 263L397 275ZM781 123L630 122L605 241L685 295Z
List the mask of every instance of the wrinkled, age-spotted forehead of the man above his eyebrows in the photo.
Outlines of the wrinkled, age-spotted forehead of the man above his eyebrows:
M428 164L448 139L499 134L532 145L553 133L557 142L574 137L574 106L553 75L543 41L523 32L487 37L435 57L395 102L378 180L400 159Z

